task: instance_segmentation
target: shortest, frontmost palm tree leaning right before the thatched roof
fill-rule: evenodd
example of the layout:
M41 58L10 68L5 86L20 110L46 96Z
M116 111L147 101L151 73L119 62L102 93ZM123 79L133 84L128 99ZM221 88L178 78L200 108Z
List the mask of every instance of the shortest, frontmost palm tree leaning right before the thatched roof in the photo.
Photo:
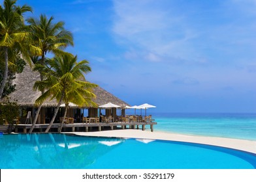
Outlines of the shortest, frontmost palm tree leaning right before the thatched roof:
M46 99L57 99L57 108L54 110L54 116L48 125L45 133L48 133L62 101L68 103L72 101L78 105L91 104L90 99L95 97L91 88L97 85L86 81L83 73L91 72L87 60L77 62L77 57L70 54L64 54L53 59L46 60L46 65L35 66L34 70L40 70L43 75L43 81L37 81L34 85L35 90L45 89L36 103L42 105ZM72 98L72 99L71 99Z

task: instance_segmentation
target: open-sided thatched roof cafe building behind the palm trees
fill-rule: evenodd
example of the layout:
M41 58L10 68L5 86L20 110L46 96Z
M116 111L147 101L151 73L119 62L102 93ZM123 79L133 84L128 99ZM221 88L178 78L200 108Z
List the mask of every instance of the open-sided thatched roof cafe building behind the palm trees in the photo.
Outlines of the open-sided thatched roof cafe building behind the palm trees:
M35 107L35 100L39 98L41 93L39 91L33 90L33 85L35 81L39 80L39 73L33 72L31 68L26 65L24 71L17 74L16 79L13 81L13 83L16 84L16 91L12 92L8 97L11 100L15 100L18 105L22 107L21 119L26 117L26 113L28 111L31 111L32 118L35 116L35 112L37 111L37 108ZM109 102L120 105L123 108L126 105L129 105L113 94L110 94L110 92L107 92L100 86L94 88L93 93L96 95L96 98L93 99L93 101L95 101L98 106ZM41 116L39 117L39 121L37 123L48 123L54 112L54 107L57 107L57 101L56 99L53 99L52 101L46 101L42 107ZM98 108L88 108L87 114L88 116L97 116L99 112L101 111ZM106 114L116 114L116 110L106 110ZM84 115L84 112L81 109L69 109L68 115L71 117L76 116L79 118L80 116Z

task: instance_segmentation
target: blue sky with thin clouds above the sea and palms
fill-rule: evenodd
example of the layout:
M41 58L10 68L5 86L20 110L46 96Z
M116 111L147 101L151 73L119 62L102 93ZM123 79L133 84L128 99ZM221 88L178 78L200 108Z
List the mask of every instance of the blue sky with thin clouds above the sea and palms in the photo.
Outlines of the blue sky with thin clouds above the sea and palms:
M256 1L25 1L65 21L87 79L152 112L256 112Z

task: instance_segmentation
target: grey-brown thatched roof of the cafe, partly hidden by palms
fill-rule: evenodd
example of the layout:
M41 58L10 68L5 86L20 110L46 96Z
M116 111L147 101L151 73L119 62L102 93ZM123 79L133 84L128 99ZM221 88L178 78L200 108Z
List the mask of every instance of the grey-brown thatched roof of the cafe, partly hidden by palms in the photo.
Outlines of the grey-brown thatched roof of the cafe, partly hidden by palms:
M16 100L17 103L24 107L33 107L35 100L39 98L40 92L33 90L33 85L35 81L40 80L40 75L38 72L33 72L31 68L27 65L22 73L16 75L13 83L16 84L16 91L12 92L8 97L11 100ZM111 102L121 107L128 105L121 99L110 94L100 86L93 89L93 93L96 95L96 99L93 99L97 105L103 105L105 103ZM57 101L54 99L52 101L46 101L43 107L56 107Z

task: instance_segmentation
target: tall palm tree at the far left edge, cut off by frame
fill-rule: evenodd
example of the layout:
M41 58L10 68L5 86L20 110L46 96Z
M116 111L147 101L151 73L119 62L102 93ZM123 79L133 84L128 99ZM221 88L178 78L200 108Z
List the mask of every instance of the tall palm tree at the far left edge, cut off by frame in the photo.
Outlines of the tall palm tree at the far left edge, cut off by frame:
M25 12L32 12L32 8L27 5L17 6L16 0L5 0L3 6L0 5L0 51L5 60L0 98L7 83L8 61L12 60L10 54L22 52L23 58L29 60L27 55L32 50L24 49L29 45L27 42L29 34L25 29L23 18Z

